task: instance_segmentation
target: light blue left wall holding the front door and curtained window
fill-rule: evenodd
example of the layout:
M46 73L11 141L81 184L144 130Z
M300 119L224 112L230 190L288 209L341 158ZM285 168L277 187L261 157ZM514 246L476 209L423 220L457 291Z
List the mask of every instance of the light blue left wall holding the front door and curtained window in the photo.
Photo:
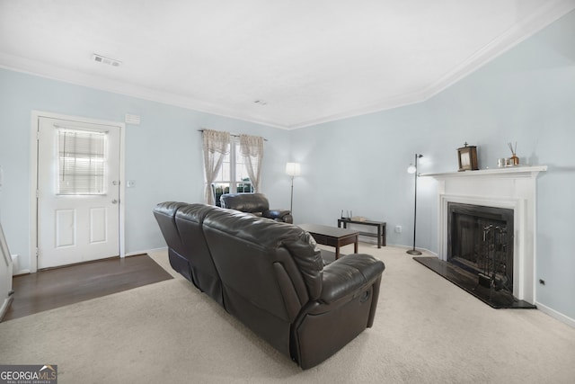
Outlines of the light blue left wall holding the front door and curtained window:
M267 138L262 190L278 207L289 206L288 131L246 121L194 112L163 103L97 91L38 76L0 69L0 165L4 188L0 214L11 253L21 255L21 269L30 267L31 111L124 121L126 113L141 117L126 128L126 252L165 246L152 209L160 201L202 201L204 171L198 129L228 130Z

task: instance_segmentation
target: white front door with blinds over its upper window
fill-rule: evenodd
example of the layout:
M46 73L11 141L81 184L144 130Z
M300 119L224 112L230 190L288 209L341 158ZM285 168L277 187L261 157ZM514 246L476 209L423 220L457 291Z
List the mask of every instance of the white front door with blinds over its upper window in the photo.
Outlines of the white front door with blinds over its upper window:
M119 255L120 129L39 117L39 269Z

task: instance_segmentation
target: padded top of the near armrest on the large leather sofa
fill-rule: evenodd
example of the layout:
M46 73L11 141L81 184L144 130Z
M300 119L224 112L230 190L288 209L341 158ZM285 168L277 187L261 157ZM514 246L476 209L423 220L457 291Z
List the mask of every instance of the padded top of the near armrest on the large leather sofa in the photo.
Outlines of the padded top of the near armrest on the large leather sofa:
M323 268L320 300L330 304L376 281L385 264L372 255L345 255Z

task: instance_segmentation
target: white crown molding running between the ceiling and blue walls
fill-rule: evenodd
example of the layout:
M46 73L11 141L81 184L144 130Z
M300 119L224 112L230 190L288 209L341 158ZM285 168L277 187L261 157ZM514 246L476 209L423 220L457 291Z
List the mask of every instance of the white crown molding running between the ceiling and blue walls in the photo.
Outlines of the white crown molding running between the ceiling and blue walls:
M141 85L134 85L100 76L88 75L75 70L41 63L28 58L15 57L2 52L0 52L0 67L74 85L82 85L114 94L137 97L147 101L169 104L197 112L206 112L230 119L248 121L267 127L277 129L301 129L330 121L338 121L368 113L382 112L405 105L425 102L431 97L446 90L449 86L454 85L465 76L469 76L478 68L489 63L492 59L499 57L502 53L516 46L519 42L526 40L528 37L535 34L535 32L541 31L547 25L557 21L573 9L575 9L575 0L545 2L531 17L521 22L517 22L517 24L510 28L509 31L501 34L498 39L492 40L490 44L476 51L471 57L467 58L457 67L452 68L437 81L416 92L411 94L399 94L394 97L385 98L384 100L379 100L375 103L369 103L365 106L349 109L344 112L320 116L306 121L297 121L294 123L288 123L287 121L271 121L259 116L250 115L243 111L227 109L213 103L206 103L190 97L185 97L181 94L171 94Z

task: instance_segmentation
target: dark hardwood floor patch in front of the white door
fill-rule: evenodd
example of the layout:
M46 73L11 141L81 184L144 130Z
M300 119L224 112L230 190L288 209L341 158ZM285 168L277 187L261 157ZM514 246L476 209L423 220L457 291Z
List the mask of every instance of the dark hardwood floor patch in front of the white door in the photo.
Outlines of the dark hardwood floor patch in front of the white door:
M13 302L3 321L172 279L148 255L112 257L13 278Z

